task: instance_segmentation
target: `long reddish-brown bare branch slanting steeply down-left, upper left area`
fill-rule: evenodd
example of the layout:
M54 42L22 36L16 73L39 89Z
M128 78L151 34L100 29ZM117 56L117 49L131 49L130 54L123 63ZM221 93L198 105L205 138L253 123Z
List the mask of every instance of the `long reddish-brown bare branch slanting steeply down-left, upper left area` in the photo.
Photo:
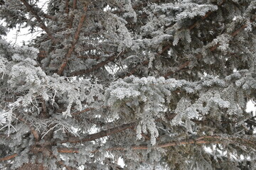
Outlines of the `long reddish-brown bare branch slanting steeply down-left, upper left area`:
M78 42L80 32L81 32L81 29L82 29L82 25L85 22L87 6L88 5L86 4L85 7L84 7L84 13L82 14L82 16L80 18L80 21L79 21L79 24L78 24L78 29L75 32L75 37L74 37L74 40L72 42L72 45L71 45L70 49L68 50L68 53L65 55L65 59L63 60L63 63L60 65L60 68L58 69L58 74L59 75L63 74L63 70L64 70L65 66L68 64L68 60L70 59L73 51L75 50L75 45Z

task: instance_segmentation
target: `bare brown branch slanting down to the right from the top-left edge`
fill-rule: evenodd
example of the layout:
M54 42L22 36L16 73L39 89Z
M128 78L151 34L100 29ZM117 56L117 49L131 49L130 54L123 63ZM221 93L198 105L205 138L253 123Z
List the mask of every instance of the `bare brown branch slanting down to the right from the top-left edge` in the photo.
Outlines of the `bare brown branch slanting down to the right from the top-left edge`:
M30 4L28 4L28 2L26 0L21 0L21 2L26 6L27 10L30 11L33 14L33 16L36 18L38 23L41 24L41 28L46 31L49 38L51 40L53 40L53 43L56 44L57 40L53 37L53 34L50 32L49 28L46 27L46 25L43 23L41 18L38 16L38 13L36 13L36 11L33 10L32 6Z

